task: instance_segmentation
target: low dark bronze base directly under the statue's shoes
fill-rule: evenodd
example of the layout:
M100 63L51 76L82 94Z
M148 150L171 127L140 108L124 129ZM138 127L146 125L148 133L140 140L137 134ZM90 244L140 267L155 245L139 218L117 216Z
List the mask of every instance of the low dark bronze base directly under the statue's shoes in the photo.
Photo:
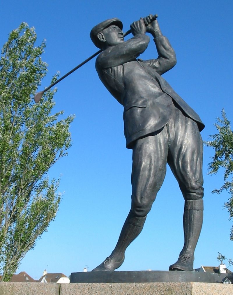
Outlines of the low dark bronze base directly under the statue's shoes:
M71 273L70 283L152 283L201 282L221 283L230 273L203 273L194 271L88 271Z

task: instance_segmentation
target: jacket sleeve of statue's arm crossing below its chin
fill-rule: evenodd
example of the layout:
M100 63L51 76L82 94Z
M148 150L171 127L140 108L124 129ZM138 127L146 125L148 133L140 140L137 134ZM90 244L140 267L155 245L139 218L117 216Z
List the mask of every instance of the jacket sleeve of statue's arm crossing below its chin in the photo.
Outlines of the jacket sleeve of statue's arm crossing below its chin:
M135 60L143 53L150 38L144 34L135 35L133 38L109 47L104 50L96 59L96 63L100 68L112 68L123 65L129 61Z

